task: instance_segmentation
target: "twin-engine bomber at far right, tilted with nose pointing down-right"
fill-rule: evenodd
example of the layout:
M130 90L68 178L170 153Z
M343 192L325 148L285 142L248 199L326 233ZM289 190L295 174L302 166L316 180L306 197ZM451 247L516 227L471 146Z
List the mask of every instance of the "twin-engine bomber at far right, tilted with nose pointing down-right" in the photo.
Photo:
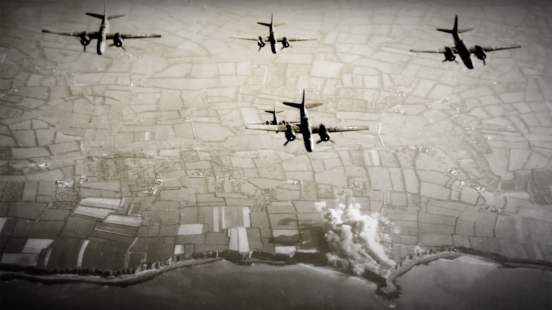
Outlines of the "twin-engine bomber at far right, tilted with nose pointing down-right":
M454 28L453 29L437 29L439 31L443 31L444 33L452 34L454 39L454 46L445 46L441 49L432 49L432 50L422 50L422 49L411 49L411 52L423 52L423 53L441 53L445 55L445 61L454 61L458 63L458 61L455 60L456 56L454 54L458 54L462 61L464 62L464 65L468 67L468 69L473 69L474 64L471 62L471 54L474 54L477 59L483 61L483 65L486 66L485 58L487 58L487 55L485 52L492 52L492 51L500 51L500 50L509 50L509 49L517 49L518 47L521 47L521 45L505 45L505 46L497 46L497 47L484 47L479 45L474 45L471 47L466 47L464 45L464 41L460 39L458 36L459 33L464 33L469 30L473 30L473 28L464 28L464 29L458 29L458 15L454 18Z

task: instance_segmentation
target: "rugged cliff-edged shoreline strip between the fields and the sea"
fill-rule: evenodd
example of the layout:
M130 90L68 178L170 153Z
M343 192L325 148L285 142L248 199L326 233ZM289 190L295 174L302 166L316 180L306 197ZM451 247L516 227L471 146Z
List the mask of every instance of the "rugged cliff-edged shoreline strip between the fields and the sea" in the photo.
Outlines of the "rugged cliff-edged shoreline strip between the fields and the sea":
M543 260L514 259L499 254L482 252L464 247L438 247L406 256L400 263L385 271L384 275L365 270L362 276L354 275L351 271L344 274L362 277L378 285L378 295L395 299L400 296L400 287L395 284L397 277L405 274L417 265L427 265L438 259L457 259L460 256L495 263L503 268L530 268L552 271L552 262ZM264 250L253 250L248 253L239 253L235 250L217 250L203 253L172 255L168 259L155 263L144 263L134 268L120 270L99 269L44 269L34 266L19 266L0 264L0 281L23 279L31 282L40 282L46 285L87 283L128 287L149 281L165 272L188 268L191 266L214 263L226 260L236 265L267 264L272 266L286 266L295 264L311 264L335 268L327 263L323 253L292 252L286 254L270 253Z

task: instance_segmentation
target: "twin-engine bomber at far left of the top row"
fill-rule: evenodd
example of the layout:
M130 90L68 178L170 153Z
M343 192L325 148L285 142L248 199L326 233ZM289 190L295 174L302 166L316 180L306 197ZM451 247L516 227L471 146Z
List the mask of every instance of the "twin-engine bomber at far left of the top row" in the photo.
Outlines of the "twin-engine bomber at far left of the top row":
M105 44L107 40L113 40L113 44L110 44L109 46L116 46L121 47L124 51L126 51L125 47L123 46L124 39L137 39L137 38L160 38L160 34L121 34L121 33L115 33L110 34L109 31L109 20L123 17L126 14L116 14L116 15L107 15L105 14L105 2L104 2L104 14L95 14L95 13L86 13L86 15L99 18L102 20L102 24L100 24L100 30L99 31L52 31L52 30L46 30L43 29L43 33L52 33L52 34L60 34L60 35L68 35L68 36L76 36L81 39L81 44L84 46L84 52L86 52L86 46L90 44L90 41L92 39L98 40L98 46L97 46L97 52L98 55L102 55L105 51Z

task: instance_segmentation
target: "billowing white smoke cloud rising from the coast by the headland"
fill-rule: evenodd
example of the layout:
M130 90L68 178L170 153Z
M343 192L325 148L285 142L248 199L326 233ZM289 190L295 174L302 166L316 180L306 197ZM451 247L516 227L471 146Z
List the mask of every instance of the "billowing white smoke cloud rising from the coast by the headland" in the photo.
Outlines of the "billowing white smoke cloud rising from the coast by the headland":
M357 275L364 274L365 269L382 274L395 265L380 244L378 226L386 220L378 213L362 215L359 204L339 204L336 209L329 209L326 202L315 202L315 206L326 225L325 237L330 247L326 257L330 263Z

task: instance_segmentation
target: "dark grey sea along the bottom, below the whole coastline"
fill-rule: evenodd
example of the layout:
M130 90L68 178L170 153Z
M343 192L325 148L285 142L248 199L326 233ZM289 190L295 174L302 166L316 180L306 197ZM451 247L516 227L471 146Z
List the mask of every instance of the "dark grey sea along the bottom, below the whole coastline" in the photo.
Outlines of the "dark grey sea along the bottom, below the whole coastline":
M1 308L56 309L550 309L552 273L461 256L418 265L388 300L376 285L306 264L229 261L168 271L130 287L2 281Z

